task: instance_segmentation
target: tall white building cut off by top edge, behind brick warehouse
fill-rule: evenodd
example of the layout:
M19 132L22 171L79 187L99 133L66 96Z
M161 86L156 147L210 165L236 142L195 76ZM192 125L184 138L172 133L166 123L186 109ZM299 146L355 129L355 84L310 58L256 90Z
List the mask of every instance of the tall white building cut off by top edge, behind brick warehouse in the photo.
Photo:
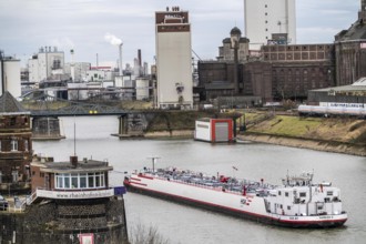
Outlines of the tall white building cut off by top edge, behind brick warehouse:
M244 22L251 50L271 42L296 44L295 0L244 0Z

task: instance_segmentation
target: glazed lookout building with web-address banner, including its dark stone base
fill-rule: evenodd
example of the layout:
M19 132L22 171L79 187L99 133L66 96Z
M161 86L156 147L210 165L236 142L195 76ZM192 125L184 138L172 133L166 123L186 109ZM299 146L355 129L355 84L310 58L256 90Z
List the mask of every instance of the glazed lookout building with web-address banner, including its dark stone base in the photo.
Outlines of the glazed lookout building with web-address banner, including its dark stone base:
M130 243L125 189L110 186L106 161L33 155L30 169L32 194L17 213L0 213L3 243Z

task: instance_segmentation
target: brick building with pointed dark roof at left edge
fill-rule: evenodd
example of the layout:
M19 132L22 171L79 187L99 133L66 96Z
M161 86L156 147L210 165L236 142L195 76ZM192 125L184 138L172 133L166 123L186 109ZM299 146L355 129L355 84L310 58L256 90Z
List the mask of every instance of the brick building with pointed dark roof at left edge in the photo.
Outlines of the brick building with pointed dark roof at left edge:
M30 191L32 157L30 112L7 91L0 96L0 191Z

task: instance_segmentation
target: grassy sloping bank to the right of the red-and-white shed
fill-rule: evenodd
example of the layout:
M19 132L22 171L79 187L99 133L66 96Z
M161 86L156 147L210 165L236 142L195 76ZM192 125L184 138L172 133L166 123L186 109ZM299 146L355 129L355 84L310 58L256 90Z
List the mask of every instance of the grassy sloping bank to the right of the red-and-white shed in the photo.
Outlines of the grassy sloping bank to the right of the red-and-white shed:
M248 120L257 120L251 114ZM276 115L253 123L241 140L366 156L366 121Z

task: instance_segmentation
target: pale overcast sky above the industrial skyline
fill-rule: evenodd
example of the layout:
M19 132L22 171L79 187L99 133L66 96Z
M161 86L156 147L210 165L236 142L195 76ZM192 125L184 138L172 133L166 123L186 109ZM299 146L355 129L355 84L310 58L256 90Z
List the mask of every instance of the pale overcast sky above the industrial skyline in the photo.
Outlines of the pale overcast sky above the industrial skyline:
M0 49L26 60L42 45L57 45L70 61L114 64L123 42L123 63L138 49L143 61L155 54L154 13L179 6L190 12L192 48L201 59L214 59L217 47L237 26L244 33L243 0L0 0ZM360 0L296 0L297 43L332 43L334 35L357 20ZM124 64L123 64L124 65Z

